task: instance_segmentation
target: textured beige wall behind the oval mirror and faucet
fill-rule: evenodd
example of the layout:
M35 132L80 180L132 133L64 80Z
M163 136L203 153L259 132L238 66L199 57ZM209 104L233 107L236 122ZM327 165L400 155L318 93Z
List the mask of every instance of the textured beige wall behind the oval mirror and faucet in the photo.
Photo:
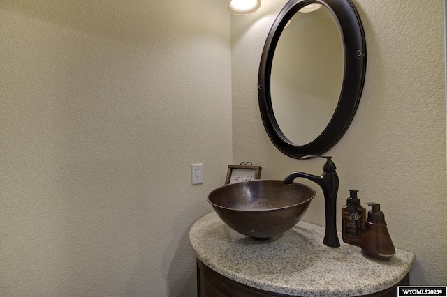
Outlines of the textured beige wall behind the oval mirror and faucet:
M397 248L417 255L411 283L445 285L444 8L442 0L428 2L353 1L367 38L365 90L351 127L327 154L338 167L338 207L350 188L360 190L363 203L380 202ZM255 14L232 18L233 162L261 165L262 178L294 170L319 175L323 165L277 151L258 112L259 59L284 3L264 1ZM323 225L323 193L316 190L304 220Z

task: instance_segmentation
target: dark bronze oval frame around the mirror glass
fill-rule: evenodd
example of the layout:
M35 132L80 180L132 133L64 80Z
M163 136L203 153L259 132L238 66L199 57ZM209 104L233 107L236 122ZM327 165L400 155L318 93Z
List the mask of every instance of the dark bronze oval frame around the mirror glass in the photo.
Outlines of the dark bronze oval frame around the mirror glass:
M294 144L281 132L272 109L270 73L274 50L288 20L309 3L326 6L334 15L344 45L344 78L339 102L325 130L302 146ZM274 21L267 40L258 74L258 100L265 130L273 144L285 155L301 159L305 155L321 155L334 146L348 129L362 96L366 73L366 43L362 22L350 0L290 0ZM321 82L324 84L324 82ZM297 127L299 129L299 127Z

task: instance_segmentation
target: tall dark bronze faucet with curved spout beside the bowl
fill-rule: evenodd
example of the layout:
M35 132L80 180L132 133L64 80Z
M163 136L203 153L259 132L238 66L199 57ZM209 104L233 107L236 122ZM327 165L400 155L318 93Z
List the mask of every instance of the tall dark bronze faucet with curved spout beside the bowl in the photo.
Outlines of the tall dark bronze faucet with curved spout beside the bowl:
M336 172L334 162L330 160L332 157L323 157L320 155L307 155L302 159L309 159L314 157L326 158L326 162L323 166L323 174L316 176L307 174L304 172L292 172L286 178L284 183L290 185L297 177L307 178L309 181L317 183L324 194L324 208L326 216L326 231L323 239L323 243L330 247L337 248L340 246L340 242L337 236L337 192L338 192L338 175Z

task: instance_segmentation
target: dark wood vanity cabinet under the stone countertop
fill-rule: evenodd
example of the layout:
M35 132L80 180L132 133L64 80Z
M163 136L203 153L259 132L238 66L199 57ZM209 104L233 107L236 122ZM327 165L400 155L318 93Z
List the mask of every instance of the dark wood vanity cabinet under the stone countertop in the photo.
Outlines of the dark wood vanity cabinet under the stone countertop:
M395 297L397 296L397 286L409 284L409 273L400 281L389 289L363 296L383 296ZM200 260L197 260L197 296L198 297L267 297L267 296L283 296L291 297L290 295L272 293L248 287L244 284L230 280L219 273L207 267Z

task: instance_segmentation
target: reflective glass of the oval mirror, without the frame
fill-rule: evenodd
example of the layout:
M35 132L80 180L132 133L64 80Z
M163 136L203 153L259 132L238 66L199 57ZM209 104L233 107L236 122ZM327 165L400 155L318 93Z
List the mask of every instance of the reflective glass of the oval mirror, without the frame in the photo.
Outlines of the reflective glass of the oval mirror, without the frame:
M337 107L343 75L342 33L330 10L295 13L279 37L270 75L274 117L288 140L304 145L321 135Z

